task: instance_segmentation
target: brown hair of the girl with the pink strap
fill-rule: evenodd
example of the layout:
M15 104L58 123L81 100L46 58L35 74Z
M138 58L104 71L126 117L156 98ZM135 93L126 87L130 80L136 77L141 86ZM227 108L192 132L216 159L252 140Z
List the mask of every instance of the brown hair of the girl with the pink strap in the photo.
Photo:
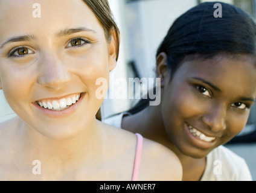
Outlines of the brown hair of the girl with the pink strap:
M111 31L115 30L115 38L117 41L117 58L119 54L119 45L120 45L120 31L115 23L114 16L109 7L109 2L107 0L83 0L88 5L88 7L94 12L95 16L100 21L104 34L106 36L106 40L108 43L111 41ZM101 120L101 110L99 109L96 118Z

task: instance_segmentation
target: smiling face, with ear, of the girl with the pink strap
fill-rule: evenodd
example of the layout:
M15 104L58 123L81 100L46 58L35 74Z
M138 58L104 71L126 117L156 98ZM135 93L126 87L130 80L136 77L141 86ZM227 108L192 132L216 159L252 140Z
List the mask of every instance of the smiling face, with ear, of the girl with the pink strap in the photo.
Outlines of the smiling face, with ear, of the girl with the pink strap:
M0 86L10 107L45 136L76 136L103 102L95 83L116 65L114 39L107 43L82 0L0 1L0 24Z

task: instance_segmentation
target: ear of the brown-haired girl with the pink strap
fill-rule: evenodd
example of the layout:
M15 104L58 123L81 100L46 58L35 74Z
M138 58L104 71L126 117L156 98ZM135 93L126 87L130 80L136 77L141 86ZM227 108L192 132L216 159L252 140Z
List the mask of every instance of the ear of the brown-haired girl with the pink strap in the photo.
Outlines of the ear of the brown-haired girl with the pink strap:
M109 71L112 71L117 66L117 51L119 45L117 43L117 36L115 30L111 30L111 42L109 43Z

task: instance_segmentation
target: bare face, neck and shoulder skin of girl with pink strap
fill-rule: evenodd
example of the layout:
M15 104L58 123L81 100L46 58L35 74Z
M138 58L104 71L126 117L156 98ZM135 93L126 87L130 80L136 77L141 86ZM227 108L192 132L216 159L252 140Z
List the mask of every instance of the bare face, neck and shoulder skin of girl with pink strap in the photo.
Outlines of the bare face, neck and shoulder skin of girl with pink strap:
M18 115L0 124L0 180L130 180L136 136L95 119L103 102L95 82L117 64L114 31L108 43L80 0L0 1L0 15L0 87ZM78 94L64 110L40 106ZM33 174L33 160L42 174ZM172 151L144 139L138 180L181 175Z

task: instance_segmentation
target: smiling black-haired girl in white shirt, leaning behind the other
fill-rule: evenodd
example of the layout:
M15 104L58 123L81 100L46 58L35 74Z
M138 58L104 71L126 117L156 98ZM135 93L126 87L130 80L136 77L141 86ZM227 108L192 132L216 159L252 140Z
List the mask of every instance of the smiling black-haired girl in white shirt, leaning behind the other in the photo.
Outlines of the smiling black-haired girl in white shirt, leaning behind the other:
M215 18L215 3L182 14L159 46L161 104L141 100L106 122L173 150L183 180L251 180L245 161L222 144L245 127L256 98L256 27L222 2L223 17ZM221 171L214 171L217 163Z

